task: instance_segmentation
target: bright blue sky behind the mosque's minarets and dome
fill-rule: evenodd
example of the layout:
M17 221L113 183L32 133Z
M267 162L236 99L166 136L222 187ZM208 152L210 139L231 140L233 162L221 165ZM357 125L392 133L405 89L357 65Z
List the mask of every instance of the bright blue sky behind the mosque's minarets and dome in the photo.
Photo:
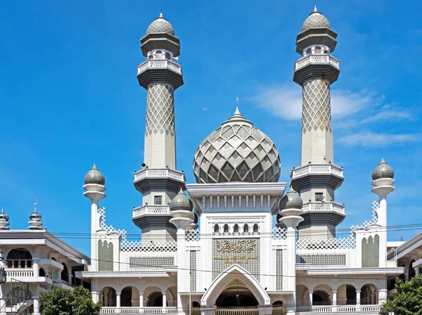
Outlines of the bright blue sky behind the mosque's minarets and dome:
M51 232L89 233L83 179L106 176L108 224L139 233L133 171L143 162L146 91L136 80L139 39L160 8L181 40L185 85L176 91L178 169L192 183L198 144L234 112L279 148L280 181L300 162L295 37L314 1L4 1L0 10L0 207L27 229L34 194ZM319 1L335 32L335 157L345 182L340 228L371 219L371 172L395 170L388 224L422 212L420 1ZM389 240L418 231L390 233ZM89 253L86 237L65 238Z

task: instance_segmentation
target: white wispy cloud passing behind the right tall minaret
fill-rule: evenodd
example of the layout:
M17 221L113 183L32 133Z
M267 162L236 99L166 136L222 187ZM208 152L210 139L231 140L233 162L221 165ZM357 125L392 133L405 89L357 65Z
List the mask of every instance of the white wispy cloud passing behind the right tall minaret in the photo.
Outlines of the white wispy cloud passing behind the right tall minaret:
M284 120L300 120L302 115L302 88L300 86L272 86L252 98L261 108ZM333 117L354 115L369 106L379 105L383 96L364 89L359 93L345 90L331 91Z

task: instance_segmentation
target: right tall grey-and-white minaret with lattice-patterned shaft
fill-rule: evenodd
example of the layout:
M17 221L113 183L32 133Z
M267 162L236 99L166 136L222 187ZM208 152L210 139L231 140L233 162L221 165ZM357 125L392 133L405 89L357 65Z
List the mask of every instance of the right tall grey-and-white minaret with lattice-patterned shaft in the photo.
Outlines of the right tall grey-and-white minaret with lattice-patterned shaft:
M302 86L302 150L300 167L293 169L292 187L303 200L305 219L300 238L335 237L335 226L345 217L334 191L343 183L343 168L334 165L330 86L338 79L339 60L331 56L337 33L328 20L314 12L296 39L293 81Z

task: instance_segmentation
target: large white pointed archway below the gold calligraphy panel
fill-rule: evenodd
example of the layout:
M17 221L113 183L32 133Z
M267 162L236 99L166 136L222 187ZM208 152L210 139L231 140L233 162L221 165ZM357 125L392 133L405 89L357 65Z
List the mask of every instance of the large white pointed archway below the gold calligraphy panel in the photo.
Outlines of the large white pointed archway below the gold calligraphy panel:
M248 289L248 292L245 290L245 288ZM234 290L239 290L239 293L234 293ZM238 297L236 297L237 294ZM229 295L231 295L235 298L235 300L236 298L239 298L241 295L243 295L243 302L239 302L243 305L270 305L269 296L262 288L260 283L252 275L250 275L248 271L243 269L238 264L234 264L233 266L229 267L217 278L215 278L210 288L208 288L208 290L205 292L205 295L203 295L201 298L200 305L202 307L213 307L216 304L217 299L220 298L220 295L226 298L229 298ZM226 300L225 302L224 299L221 299L222 298L219 300L220 304L226 305L235 303L233 299ZM237 303L238 302L236 302L236 305Z

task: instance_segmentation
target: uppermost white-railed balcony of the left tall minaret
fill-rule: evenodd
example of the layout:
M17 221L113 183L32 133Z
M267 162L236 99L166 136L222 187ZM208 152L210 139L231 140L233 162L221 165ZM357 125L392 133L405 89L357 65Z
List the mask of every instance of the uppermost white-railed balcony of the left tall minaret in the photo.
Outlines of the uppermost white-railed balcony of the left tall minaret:
M144 89L153 83L171 84L174 89L184 84L181 65L170 59L146 60L138 65L136 76Z

